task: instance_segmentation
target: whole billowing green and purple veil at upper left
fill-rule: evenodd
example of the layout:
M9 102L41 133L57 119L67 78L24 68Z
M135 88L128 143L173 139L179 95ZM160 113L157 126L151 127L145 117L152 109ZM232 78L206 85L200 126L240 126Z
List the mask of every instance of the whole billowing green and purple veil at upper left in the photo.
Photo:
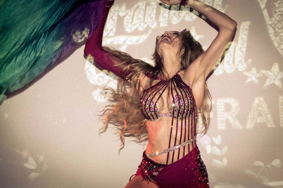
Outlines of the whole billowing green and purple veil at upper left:
M105 0L0 0L0 105L83 45L104 6Z

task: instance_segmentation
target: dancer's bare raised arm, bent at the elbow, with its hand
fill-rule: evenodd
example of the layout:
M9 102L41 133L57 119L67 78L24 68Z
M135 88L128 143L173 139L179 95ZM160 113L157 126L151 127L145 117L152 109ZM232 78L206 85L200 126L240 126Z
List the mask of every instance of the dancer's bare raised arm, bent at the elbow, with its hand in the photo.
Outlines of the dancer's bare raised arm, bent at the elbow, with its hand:
M177 5L180 3L180 0L161 1L164 4L169 5ZM191 63L191 70L187 69L187 71L190 71L190 73L188 72L188 75L193 73L195 74L195 78L204 77L205 79L218 59L223 55L226 44L233 39L237 23L221 11L198 0L188 0L187 5L198 11L200 14L203 14L219 28L218 35L208 49Z

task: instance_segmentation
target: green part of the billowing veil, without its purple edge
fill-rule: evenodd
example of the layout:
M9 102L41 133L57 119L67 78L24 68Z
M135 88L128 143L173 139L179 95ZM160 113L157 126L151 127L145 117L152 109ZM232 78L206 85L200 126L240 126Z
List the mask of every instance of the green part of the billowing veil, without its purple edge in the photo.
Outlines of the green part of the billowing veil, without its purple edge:
M62 44L54 26L76 1L0 2L0 104L50 65Z

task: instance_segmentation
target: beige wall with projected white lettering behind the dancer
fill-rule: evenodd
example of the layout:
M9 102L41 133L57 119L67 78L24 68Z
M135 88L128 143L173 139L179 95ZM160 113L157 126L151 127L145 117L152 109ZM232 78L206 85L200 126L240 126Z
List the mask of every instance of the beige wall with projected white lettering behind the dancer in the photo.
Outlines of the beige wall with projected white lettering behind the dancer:
M213 28L158 2L116 0L103 45L149 61L157 35L187 28L208 48ZM230 51L207 81L211 123L197 143L210 187L283 187L283 1L205 2L238 23ZM126 142L118 155L110 129L98 136L97 114L106 103L96 86L115 80L86 61L83 48L1 105L0 187L124 187L135 174L145 146Z

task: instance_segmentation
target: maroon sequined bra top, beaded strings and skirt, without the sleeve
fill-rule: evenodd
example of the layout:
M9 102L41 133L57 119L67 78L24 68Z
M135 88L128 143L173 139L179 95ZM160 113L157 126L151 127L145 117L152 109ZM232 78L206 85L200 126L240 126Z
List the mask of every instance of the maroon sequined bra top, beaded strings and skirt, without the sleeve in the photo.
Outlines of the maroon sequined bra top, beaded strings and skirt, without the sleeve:
M170 103L169 113L160 113L157 108L159 98L166 93L166 80L155 77L154 79L160 81L151 88L145 88L142 91L140 107L144 117L149 121L154 121L161 116L171 117L172 125L169 135L168 151L164 150L165 152L163 153L165 154L159 154L160 151L156 154L166 155L167 153L166 164L161 164L149 159L149 154L146 154L144 151L142 162L134 175L141 175L147 181L154 180L152 182L156 183L159 187L209 187L206 167L200 157L200 151L194 139L196 136L197 106L192 94L192 89L190 88L190 83L188 83L187 75L185 74L185 83L178 74L182 70L183 69L178 70L169 80L170 95L172 99L174 99ZM146 75L150 78L149 73L146 73ZM155 100L155 98L157 100ZM175 126L173 126L174 119L176 119ZM176 129L173 130L173 127L176 127ZM180 135L177 134L178 127L181 129ZM173 131L175 131L176 134L175 138L172 139ZM177 136L180 137L179 143L176 143ZM190 148L189 144L182 145L181 140L183 140L183 143L189 140L192 142L193 147ZM188 147L188 151L190 151L186 155L184 147ZM172 155L169 164L170 152L172 152ZM154 156L154 153L152 154ZM174 155L177 155L177 161L175 162Z

